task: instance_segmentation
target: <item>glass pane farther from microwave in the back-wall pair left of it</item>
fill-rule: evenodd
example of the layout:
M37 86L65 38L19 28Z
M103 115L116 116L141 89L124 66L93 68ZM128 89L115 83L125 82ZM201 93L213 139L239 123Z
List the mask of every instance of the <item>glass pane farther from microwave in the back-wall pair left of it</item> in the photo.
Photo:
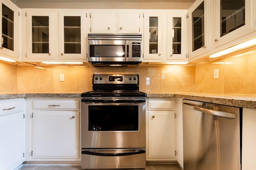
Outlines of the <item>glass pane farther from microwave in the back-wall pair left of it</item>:
M49 53L49 16L32 16L32 53Z

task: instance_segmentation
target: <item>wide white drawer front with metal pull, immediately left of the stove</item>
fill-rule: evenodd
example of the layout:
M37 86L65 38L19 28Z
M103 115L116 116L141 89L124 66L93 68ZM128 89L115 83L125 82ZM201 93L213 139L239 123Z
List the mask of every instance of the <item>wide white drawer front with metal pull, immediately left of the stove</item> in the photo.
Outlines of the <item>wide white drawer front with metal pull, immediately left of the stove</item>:
M33 109L40 110L79 110L78 100L34 100Z

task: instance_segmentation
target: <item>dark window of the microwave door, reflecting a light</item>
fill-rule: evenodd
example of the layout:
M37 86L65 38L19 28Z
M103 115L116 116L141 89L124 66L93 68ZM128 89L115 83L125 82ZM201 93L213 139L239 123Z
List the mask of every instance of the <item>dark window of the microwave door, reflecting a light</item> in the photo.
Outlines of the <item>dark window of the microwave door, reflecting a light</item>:
M90 57L125 57L125 45L90 45Z

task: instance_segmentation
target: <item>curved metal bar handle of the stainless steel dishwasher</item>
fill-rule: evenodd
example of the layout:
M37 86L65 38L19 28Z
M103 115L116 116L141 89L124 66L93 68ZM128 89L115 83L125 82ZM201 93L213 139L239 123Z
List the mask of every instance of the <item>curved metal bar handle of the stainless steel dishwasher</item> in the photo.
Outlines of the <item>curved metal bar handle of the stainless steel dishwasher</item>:
M214 110L211 110L211 109L206 109L206 108L190 105L188 103L183 103L183 106L188 108L188 109L192 109L192 110L195 110L195 111L200 111L200 112L203 112L203 113L209 113L209 114L212 114L212 115L215 115L215 116L236 119L236 114L235 113L214 111Z

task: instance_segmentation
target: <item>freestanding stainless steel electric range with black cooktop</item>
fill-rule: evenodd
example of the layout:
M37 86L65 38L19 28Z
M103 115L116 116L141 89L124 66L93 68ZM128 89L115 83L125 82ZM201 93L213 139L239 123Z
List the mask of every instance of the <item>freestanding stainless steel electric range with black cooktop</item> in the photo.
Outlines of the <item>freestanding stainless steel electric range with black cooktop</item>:
M138 75L93 75L82 93L82 169L146 167L146 94Z

